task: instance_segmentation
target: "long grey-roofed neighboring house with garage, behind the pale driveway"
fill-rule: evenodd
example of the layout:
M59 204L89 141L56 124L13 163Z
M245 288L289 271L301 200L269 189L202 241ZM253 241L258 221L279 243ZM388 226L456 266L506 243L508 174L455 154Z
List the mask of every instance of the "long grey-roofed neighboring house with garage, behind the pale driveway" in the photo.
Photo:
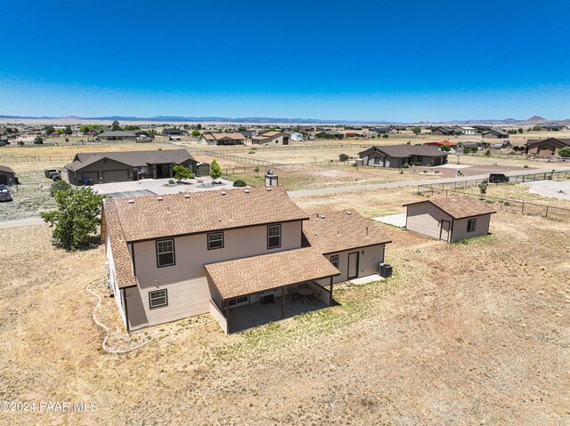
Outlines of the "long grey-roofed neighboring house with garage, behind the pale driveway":
M84 179L110 183L171 178L175 165L188 167L196 175L206 173L205 168L199 169L198 162L186 149L78 153L65 168L69 183L78 185Z

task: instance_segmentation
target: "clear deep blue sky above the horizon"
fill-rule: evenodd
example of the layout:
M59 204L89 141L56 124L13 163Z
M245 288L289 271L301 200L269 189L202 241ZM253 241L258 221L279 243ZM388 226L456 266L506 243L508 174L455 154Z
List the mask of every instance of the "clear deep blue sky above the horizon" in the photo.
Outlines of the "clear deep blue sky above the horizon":
M0 0L0 114L570 117L570 2Z

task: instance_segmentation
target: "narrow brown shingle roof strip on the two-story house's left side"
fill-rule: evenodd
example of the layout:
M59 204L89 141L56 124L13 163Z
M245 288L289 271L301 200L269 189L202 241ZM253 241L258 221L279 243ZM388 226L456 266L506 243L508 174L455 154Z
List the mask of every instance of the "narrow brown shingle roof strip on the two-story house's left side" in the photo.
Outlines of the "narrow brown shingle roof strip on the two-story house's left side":
M133 261L128 251L125 235L118 219L117 209L112 200L106 199L103 202L103 222L104 232L109 236L110 248L113 253L113 262L117 271L117 281L119 288L137 285L133 275Z

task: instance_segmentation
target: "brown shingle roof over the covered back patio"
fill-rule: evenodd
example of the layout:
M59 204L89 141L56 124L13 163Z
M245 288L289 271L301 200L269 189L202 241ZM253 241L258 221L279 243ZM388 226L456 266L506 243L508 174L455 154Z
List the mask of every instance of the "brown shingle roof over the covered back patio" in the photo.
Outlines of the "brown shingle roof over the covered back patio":
M340 272L314 248L299 248L204 265L223 299L337 276Z

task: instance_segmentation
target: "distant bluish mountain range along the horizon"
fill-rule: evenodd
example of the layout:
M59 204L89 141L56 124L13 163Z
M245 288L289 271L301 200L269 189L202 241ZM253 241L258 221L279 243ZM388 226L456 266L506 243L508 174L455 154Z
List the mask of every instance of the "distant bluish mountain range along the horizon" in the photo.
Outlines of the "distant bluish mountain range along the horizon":
M549 120L544 117L534 116L526 120L515 118L500 119L473 119L473 120L452 120L444 122L422 121L419 123L395 122L386 120L322 120L318 118L276 118L276 117L180 117L180 116L157 116L157 117L31 117L31 116L1 116L0 119L24 119L24 120L61 120L66 122L87 122L87 121L133 121L133 122L195 122L195 123L236 123L236 124L338 124L338 125L570 125L570 119Z

